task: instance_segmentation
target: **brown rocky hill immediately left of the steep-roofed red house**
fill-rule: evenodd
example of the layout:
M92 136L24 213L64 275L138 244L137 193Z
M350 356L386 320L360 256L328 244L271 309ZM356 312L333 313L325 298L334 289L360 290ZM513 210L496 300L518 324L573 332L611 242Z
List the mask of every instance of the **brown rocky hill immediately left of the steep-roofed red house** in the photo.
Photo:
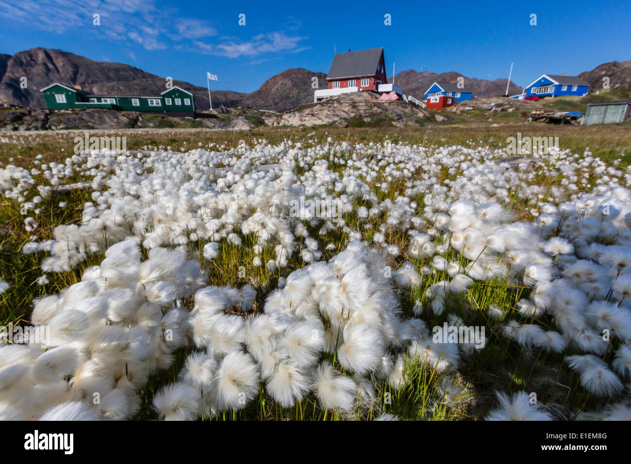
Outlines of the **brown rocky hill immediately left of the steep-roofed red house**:
M313 78L317 78L317 87ZM326 74L304 68L287 69L266 80L259 90L246 95L241 105L263 110L284 111L314 101L314 90L326 88Z

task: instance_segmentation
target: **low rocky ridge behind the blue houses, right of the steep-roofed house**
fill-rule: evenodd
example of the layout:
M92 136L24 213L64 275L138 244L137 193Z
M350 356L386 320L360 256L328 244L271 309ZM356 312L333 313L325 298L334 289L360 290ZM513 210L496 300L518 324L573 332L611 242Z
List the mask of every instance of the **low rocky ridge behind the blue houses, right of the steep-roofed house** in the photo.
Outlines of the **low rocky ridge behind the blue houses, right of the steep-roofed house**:
M394 83L403 89L403 92L413 97L422 99L423 94L434 82L456 82L457 78L464 78L465 88L473 90L474 97L497 97L506 92L507 79L489 81L485 79L468 78L463 74L452 71L450 73L433 73L422 71L417 73L414 69L407 69L394 75ZM392 82L392 77L388 78ZM521 93L521 87L510 83L509 95Z

